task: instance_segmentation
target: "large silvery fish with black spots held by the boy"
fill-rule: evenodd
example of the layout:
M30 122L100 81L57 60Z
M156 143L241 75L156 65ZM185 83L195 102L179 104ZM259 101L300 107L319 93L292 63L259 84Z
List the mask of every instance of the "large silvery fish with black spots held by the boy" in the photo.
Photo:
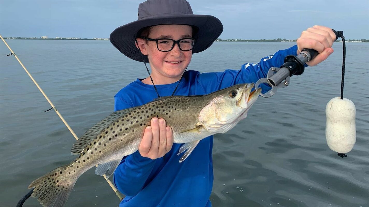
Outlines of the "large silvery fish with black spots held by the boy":
M80 175L99 164L95 173L111 176L121 159L138 150L145 128L153 117L164 118L172 127L173 142L186 143L184 161L199 141L225 133L244 119L261 88L251 92L254 83L238 84L208 95L163 97L145 105L116 111L87 130L70 152L79 154L67 165L33 181L32 197L45 207L62 207Z

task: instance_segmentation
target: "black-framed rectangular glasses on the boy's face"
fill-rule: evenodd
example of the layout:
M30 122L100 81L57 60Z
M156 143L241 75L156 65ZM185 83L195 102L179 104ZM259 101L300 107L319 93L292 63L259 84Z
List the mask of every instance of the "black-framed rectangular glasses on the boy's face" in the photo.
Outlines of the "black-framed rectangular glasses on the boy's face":
M140 37L142 39L146 39L148 41L155 41L156 47L159 51L168 52L173 49L174 44L178 44L179 49L182 51L189 51L193 49L193 45L195 43L195 38L182 38L179 40L169 39L169 38L159 38L159 39L151 39L147 37Z

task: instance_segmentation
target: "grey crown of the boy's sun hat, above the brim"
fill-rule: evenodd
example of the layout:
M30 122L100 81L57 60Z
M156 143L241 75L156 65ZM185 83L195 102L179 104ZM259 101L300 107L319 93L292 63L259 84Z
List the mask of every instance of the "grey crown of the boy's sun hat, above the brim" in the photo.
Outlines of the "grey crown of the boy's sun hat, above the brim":
M147 0L138 6L138 20L171 14L193 14L193 12L186 0Z

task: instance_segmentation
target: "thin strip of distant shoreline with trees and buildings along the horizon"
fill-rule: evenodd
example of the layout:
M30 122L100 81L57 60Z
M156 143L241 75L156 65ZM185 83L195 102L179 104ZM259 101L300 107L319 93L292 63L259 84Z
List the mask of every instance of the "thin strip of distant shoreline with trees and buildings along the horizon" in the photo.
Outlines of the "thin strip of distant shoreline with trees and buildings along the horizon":
M23 38L23 37L4 37L4 39L32 39L32 40L97 40L97 41L107 41L109 38ZM215 42L296 42L296 39L216 39ZM342 40L337 40L336 42L342 42ZM369 42L367 39L361 40L345 40L345 42Z

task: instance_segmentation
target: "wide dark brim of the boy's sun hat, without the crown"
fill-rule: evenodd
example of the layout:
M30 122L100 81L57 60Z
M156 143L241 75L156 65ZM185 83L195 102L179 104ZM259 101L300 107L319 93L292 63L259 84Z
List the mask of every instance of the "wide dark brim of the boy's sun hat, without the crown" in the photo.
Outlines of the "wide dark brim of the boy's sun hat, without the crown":
M142 60L142 54L135 45L137 32L149 26L162 24L184 24L193 25L199 30L196 34L196 42L192 53L204 51L218 38L223 32L223 25L218 18L211 15L196 15L196 14L179 14L156 17L149 17L142 20L130 22L121 27L118 27L110 34L110 42L125 56L139 61ZM149 62L148 57L144 56L145 62Z

